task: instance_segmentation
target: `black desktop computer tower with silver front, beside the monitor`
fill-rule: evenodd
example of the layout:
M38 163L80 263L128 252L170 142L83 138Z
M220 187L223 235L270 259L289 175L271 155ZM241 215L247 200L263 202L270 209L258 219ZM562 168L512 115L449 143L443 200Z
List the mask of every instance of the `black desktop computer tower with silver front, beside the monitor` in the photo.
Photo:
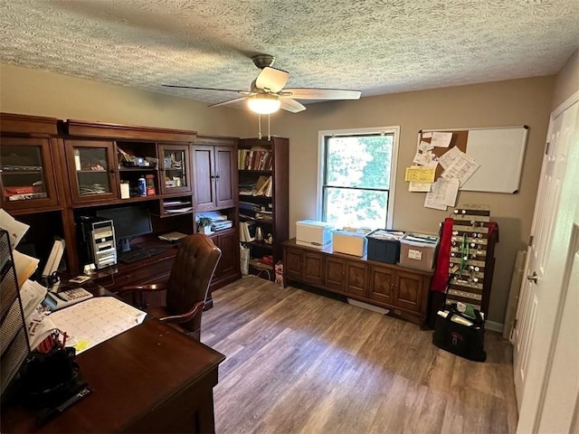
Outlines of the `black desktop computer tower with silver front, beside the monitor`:
M115 227L110 219L81 217L82 242L88 259L96 269L117 263Z

